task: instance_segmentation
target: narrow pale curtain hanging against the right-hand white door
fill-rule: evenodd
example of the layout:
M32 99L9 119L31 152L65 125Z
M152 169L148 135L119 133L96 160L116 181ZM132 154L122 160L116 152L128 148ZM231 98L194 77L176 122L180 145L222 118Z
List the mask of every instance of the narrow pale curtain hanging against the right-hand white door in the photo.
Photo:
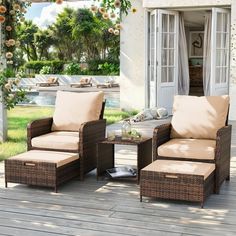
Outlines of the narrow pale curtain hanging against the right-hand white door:
M210 95L211 80L211 23L212 14L205 16L204 45L203 45L203 90L204 95Z

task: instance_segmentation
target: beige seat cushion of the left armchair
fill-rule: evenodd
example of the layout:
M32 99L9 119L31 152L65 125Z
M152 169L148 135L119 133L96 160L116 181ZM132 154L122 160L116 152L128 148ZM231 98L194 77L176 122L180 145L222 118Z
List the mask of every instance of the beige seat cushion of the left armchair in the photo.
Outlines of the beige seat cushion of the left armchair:
M79 132L51 132L32 138L31 145L37 148L79 150Z

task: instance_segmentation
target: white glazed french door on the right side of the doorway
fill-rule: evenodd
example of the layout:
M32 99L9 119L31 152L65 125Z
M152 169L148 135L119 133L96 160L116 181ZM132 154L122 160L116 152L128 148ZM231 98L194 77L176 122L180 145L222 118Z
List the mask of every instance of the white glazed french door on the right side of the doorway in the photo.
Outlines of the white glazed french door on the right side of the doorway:
M229 91L229 48L230 48L230 11L212 9L211 32L211 93L228 94Z

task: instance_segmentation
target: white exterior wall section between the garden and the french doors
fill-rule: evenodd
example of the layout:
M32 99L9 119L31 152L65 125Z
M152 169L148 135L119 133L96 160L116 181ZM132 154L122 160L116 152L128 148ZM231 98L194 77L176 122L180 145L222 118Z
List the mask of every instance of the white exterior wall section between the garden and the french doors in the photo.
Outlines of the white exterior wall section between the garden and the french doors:
M132 1L136 13L124 16L121 30L120 102L121 108L145 106L145 23L142 0Z

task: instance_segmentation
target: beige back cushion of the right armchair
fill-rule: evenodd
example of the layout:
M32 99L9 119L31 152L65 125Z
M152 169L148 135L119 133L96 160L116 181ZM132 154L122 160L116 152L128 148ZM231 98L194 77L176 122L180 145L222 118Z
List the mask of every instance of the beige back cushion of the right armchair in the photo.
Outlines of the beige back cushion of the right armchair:
M175 96L171 138L216 139L225 125L229 96Z

